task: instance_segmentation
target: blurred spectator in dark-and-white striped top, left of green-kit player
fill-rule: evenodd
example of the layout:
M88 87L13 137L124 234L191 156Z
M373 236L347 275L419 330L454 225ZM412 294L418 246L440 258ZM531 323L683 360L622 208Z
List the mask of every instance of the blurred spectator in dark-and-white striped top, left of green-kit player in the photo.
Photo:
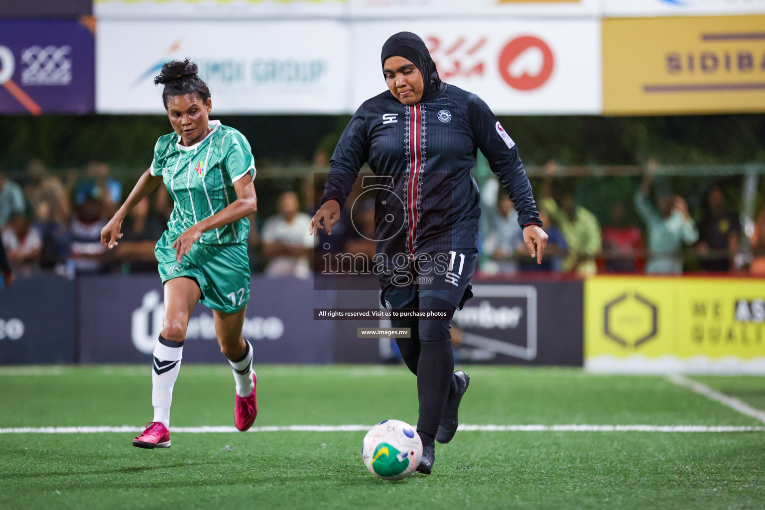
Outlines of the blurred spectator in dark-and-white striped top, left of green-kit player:
M106 226L103 219L103 204L98 190L77 206L77 215L70 225L72 238L72 261L77 273L95 273L101 270L101 259L106 248L101 244L101 229Z

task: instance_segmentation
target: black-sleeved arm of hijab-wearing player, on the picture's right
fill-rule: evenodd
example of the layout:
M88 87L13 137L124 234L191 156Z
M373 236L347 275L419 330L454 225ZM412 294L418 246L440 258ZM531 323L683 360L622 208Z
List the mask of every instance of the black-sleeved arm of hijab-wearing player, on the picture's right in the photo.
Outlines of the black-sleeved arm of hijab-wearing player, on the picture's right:
M505 132L489 106L478 96L471 96L468 100L467 115L474 143L486 156L491 171L499 178L518 211L518 223L523 230L523 244L529 249L529 255L536 257L537 263L541 264L547 245L547 234L542 230L542 221L539 219L529 177L526 177L526 171L523 169L516 142Z

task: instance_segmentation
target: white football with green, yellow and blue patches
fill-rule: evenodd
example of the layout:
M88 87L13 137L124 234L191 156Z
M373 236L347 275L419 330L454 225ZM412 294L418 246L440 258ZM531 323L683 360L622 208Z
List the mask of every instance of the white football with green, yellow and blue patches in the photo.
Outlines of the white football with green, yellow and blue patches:
M420 465L422 440L412 425L400 420L381 421L364 436L361 458L374 476L400 480Z

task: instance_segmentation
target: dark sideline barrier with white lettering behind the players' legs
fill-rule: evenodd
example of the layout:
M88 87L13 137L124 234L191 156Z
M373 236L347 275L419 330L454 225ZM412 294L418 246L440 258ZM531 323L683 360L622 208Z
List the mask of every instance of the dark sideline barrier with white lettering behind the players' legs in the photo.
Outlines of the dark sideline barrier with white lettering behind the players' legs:
M458 361L582 365L581 281L482 282L473 292L454 317ZM155 275L20 280L0 291L0 364L150 362L162 300ZM357 327L389 324L313 320L314 308L329 307L377 308L379 291L317 291L310 279L253 276L243 333L256 363L396 362L392 339L356 337ZM212 310L202 305L184 361L225 362Z

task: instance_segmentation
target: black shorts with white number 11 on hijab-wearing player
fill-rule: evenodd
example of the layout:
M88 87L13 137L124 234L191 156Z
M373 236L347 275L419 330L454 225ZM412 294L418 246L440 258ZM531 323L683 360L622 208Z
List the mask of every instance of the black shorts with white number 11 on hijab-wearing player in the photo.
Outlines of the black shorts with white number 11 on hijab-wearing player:
M422 297L438 297L461 310L473 297L470 278L476 269L476 249L454 249L419 255L407 268L379 275L380 303L392 308L419 308Z

